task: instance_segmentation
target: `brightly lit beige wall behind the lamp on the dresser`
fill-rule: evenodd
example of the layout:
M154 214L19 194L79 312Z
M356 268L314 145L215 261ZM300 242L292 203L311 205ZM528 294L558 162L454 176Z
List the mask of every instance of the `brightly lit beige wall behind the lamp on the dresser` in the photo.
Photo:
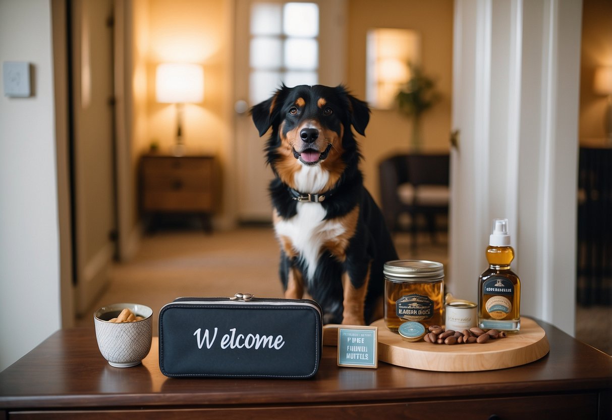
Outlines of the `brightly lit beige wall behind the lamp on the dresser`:
M225 0L152 0L149 3L149 141L168 151L176 135L173 105L155 102L155 66L161 62L195 62L204 67L204 102L187 104L183 136L190 153L223 157L230 140L231 54L233 48Z

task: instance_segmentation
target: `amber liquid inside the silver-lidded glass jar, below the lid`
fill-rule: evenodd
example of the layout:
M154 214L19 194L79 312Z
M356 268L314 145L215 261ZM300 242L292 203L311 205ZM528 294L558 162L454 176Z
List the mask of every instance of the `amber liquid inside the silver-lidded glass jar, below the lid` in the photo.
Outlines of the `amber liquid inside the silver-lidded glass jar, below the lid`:
M420 322L425 326L425 329L430 325L442 325L442 310L444 309L442 303L444 282L442 280L436 282L395 282L386 279L385 282L384 319L387 328L391 331L397 331L400 325L407 321ZM416 295L416 302L412 305L412 308L410 307L411 304L407 303L406 307L408 309L404 312L408 313L403 314L402 318L398 317L397 301L405 298L405 296L414 295ZM427 313L428 309L425 309L425 311L419 310L419 301L424 299L431 299L433 302L431 313Z

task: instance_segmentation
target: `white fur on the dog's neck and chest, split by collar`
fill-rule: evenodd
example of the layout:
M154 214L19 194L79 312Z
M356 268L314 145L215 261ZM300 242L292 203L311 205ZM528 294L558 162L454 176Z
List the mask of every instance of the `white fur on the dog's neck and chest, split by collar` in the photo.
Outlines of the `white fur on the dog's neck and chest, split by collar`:
M321 167L302 167L296 173L297 190L300 192L318 192L329 178L327 171ZM324 220L325 209L319 203L297 203L297 214L291 219L278 220L275 231L278 237L284 236L291 241L294 250L307 264L308 279L312 279L317 261L326 244L345 233L346 227L337 220Z

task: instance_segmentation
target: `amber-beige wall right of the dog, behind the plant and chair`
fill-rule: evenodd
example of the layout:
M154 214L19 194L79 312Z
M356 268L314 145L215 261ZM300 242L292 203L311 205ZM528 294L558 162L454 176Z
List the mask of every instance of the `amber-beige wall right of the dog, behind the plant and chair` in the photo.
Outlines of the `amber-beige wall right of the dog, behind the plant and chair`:
M346 82L365 99L365 37L370 28L405 28L419 32L421 65L438 81L441 102L423 114L424 152L448 151L452 92L452 0L351 0L348 10ZM397 111L374 110L362 140L365 186L378 200L378 163L394 152L407 152L411 122Z

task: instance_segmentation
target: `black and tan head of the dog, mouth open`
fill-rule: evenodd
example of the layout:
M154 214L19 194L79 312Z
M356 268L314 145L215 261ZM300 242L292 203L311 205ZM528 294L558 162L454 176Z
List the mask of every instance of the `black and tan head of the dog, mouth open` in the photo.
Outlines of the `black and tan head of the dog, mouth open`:
M263 136L272 127L267 160L272 170L291 186L303 167L320 167L338 179L351 159L359 159L351 131L364 135L370 120L367 104L344 86L282 86L274 96L251 108L253 122Z

